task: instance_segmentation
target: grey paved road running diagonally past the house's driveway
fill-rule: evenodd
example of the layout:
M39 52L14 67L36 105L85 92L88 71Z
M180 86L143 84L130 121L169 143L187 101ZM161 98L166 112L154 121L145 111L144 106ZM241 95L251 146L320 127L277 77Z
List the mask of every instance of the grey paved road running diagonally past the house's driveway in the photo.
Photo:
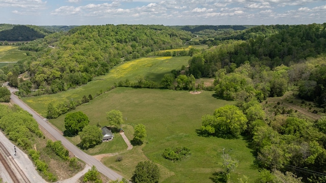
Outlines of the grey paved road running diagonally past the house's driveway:
M97 159L95 159L94 157L92 157L90 155L87 155L82 150L80 150L78 147L76 147L71 142L69 142L65 137L63 137L60 134L59 131L57 131L55 128L53 128L44 118L39 116L34 110L32 110L30 107L28 107L28 105L26 105L21 100L19 100L17 96L11 94L11 99L14 103L19 105L22 109L31 113L39 125L41 125L45 130L47 130L57 140L61 140L62 144L69 151L71 151L77 158L79 158L80 160L83 160L90 166L95 165L99 172L101 172L103 175L105 175L106 177L108 177L112 180L122 179L121 175L119 175L115 171L111 170L110 168L107 168L100 161L98 161Z

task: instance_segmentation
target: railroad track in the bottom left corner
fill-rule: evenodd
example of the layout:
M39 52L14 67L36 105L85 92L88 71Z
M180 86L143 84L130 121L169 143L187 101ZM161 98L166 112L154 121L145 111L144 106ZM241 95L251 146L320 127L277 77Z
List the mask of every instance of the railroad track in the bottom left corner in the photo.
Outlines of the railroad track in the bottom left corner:
M0 161L6 168L7 172L9 173L12 181L13 182L31 183L30 180L24 174L24 172L22 172L20 167L17 165L15 160L12 158L11 154L9 153L9 151L6 149L6 147L4 146L4 144L2 142L0 142L0 151L2 151L2 152L0 152ZM11 162L11 164L14 166L14 168L11 167L8 162ZM18 172L18 174L20 176L19 175L17 176L17 173L15 173L15 172Z

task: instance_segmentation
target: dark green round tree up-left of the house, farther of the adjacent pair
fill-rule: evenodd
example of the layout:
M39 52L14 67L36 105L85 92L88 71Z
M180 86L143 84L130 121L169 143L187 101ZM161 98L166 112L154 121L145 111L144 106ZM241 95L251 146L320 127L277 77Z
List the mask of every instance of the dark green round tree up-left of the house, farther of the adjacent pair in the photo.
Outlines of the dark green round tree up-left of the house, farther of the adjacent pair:
M65 128L71 135L77 135L89 122L88 116L82 111L72 112L65 117Z

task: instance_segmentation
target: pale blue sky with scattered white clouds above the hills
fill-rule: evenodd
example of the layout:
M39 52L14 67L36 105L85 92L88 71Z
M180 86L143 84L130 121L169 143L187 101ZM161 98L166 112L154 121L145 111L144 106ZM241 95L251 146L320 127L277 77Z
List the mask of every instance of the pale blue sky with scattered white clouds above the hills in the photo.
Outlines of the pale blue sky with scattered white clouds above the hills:
M0 0L0 23L260 25L326 22L326 0Z

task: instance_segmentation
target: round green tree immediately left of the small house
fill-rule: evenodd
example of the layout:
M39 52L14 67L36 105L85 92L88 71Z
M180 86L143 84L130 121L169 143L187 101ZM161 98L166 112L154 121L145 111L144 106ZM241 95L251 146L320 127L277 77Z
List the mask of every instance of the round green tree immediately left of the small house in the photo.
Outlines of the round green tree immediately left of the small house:
M83 131L78 133L80 137L80 145L84 148L94 147L102 142L102 131L95 125L87 125Z

